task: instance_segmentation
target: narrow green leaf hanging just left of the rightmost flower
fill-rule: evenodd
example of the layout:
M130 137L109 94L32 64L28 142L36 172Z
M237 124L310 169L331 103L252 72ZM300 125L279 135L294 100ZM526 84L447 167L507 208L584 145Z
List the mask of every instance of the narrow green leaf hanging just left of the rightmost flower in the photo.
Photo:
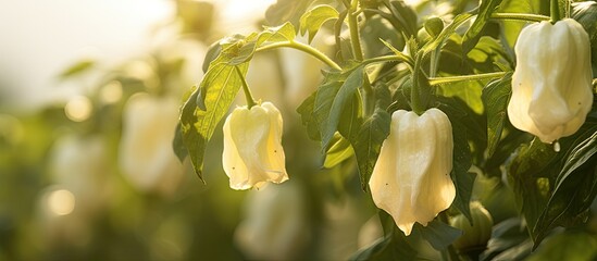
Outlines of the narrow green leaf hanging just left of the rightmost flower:
M511 80L512 74L508 74L483 88L482 98L487 110L487 158L496 151L507 121L506 109L512 92Z

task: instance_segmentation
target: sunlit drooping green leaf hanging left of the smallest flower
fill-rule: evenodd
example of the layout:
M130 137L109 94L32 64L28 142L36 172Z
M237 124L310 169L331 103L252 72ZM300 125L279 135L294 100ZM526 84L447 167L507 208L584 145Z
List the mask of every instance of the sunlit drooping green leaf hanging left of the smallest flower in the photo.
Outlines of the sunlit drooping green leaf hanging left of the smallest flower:
M214 60L197 88L183 105L181 129L195 172L203 181L203 157L217 123L228 111L241 85L241 75L235 66L226 64L221 55ZM238 65L242 75L247 74L248 63ZM201 94L201 96L199 96ZM199 108L200 101L204 108ZM203 110L204 109L204 110Z

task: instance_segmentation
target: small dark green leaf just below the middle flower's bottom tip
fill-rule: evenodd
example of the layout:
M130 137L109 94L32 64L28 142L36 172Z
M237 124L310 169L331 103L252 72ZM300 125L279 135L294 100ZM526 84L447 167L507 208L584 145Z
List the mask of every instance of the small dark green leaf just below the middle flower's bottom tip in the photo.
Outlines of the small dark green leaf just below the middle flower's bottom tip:
M441 251L462 236L462 231L451 227L444 222L433 220L427 226L414 224L413 234L420 233L435 250Z

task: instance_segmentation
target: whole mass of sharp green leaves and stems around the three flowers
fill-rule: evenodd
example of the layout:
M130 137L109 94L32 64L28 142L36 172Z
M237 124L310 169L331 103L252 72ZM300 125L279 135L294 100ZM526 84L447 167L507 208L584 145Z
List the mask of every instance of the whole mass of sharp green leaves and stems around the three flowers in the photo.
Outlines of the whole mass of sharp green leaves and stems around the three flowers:
M530 141L530 135L513 128L507 107L514 42L528 21L545 18L537 15L548 14L549 4L539 0L486 0L462 12L472 2L459 1L452 16L431 16L421 23L430 16L418 17L402 1L332 4L278 0L266 16L270 24L279 26L232 36L210 48L203 64L206 76L182 110L173 145L177 156L183 159L188 152L202 177L207 142L238 92L253 54L291 47L333 67L324 72L318 89L296 110L309 138L321 144L325 169L343 167L346 172L355 165L340 163L355 156L358 179L366 191L382 144L389 135L390 114L398 109L437 107L451 122L455 145L450 177L457 195L445 214L458 211L472 221L470 202L476 177L498 179L506 172L523 220L496 224L487 249L475 258L525 258L555 227L579 226L586 221L597 195L597 119L590 114L576 134L561 138L561 152L537 139ZM594 28L594 15L579 12L574 14L585 28ZM496 13L518 16L502 20L496 18ZM524 21L525 14L534 16ZM335 55L326 61L324 54L295 41L295 28L308 34L311 44L315 35L329 33L322 30L328 21L334 21ZM235 67L241 73L235 73ZM187 150L181 149L181 140ZM505 183L500 182L507 189ZM436 219L425 227L416 224L413 234L406 237L389 215L380 212L380 216L385 236L353 254L352 260L424 258L413 243L426 240L445 251L461 234ZM527 235L518 229L522 223Z

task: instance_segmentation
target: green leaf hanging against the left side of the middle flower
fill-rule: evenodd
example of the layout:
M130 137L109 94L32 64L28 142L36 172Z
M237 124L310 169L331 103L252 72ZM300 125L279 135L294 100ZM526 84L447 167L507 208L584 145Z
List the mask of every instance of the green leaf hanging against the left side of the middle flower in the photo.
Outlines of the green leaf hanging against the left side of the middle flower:
M356 139L350 140L357 157L361 187L366 191L369 178L380 157L382 144L389 135L391 117L385 110L376 108L373 114L368 117L360 127Z

